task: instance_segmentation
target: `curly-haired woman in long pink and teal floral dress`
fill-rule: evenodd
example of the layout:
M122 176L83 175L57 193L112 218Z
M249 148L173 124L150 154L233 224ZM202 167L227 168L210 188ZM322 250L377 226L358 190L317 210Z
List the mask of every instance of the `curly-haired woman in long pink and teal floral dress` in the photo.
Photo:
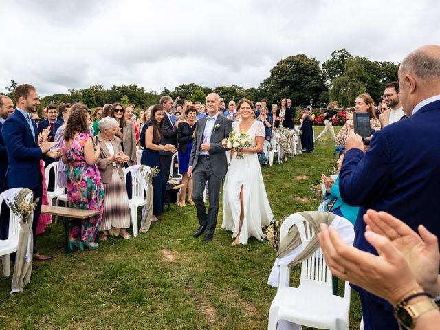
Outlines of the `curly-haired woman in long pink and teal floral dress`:
M74 109L75 107L75 109ZM77 248L86 245L94 250L98 226L104 211L104 188L96 166L100 148L89 135L90 111L84 104L74 104L66 125L62 160L67 164L67 197L70 208L98 210L100 214L83 219L81 228L72 224L70 242Z

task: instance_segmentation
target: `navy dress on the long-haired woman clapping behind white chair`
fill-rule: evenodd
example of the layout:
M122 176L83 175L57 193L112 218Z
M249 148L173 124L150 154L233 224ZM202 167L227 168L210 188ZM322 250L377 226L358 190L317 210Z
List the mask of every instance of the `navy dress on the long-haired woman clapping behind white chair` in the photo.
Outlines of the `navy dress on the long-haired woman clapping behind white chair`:
M153 182L151 183L153 186L153 214L157 217L160 214L164 213L164 201L165 201L165 192L166 192L166 179L164 175L164 171L162 170L162 166L160 166L159 161L159 151L148 149L145 146L145 132L149 126L153 126L152 122L147 122L144 127L142 127L142 132L140 133L140 144L144 147L144 151L142 151L142 157L140 159L140 164L154 167L157 166L160 169L159 174Z

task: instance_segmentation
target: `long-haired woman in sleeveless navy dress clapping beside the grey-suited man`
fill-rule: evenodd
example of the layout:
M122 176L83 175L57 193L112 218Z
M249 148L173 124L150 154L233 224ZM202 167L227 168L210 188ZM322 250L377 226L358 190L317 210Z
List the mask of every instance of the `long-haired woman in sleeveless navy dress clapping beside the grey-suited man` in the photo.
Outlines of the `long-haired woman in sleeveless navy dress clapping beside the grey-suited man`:
M140 144L144 147L140 164L160 169L157 177L153 179L153 214L155 221L157 216L164 212L164 200L166 192L166 179L159 161L159 151L170 151L175 153L177 148L173 144L160 144L162 140L162 120L164 119L164 108L156 104L151 109L150 120L142 127Z

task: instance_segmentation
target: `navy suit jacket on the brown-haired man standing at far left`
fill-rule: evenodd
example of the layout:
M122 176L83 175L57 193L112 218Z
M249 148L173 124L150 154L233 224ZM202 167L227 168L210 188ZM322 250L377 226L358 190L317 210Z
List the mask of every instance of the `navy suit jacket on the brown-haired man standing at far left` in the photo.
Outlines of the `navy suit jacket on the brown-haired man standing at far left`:
M8 152L9 166L6 173L5 186L8 188L24 187L36 188L42 182L40 159L43 154L38 142L36 124L34 137L32 131L20 111L15 110L3 124L6 151Z

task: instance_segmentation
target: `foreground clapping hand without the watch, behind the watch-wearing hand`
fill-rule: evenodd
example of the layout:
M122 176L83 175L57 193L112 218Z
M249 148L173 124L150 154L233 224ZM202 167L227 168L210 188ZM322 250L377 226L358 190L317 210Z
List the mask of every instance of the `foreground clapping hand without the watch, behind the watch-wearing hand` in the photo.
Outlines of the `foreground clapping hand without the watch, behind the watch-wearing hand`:
M412 274L423 289L439 294L437 279L440 252L437 236L419 225L420 236L408 225L386 212L368 210L364 214L366 230L387 237L403 254Z

